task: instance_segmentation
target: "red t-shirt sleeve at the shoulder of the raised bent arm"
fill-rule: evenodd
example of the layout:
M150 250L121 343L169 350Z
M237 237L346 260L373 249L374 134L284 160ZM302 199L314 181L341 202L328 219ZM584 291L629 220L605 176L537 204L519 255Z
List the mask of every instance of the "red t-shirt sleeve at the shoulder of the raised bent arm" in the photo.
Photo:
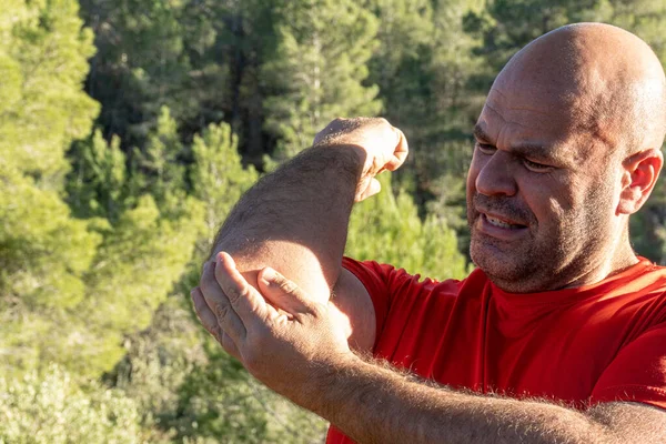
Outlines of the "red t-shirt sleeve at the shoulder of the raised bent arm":
M356 261L351 258L343 258L342 266L354 274L367 290L375 310L375 337L380 337L401 282L413 276L402 269L395 270L392 265L380 264L374 261Z

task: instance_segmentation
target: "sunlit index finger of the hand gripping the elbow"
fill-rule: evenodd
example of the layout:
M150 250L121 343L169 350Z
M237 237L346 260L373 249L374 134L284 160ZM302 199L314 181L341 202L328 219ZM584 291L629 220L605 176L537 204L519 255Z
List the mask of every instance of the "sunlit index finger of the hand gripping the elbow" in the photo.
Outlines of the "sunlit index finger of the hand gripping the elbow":
M220 252L215 260L215 280L229 297L233 311L244 324L263 321L268 314L266 301L238 271L233 258Z

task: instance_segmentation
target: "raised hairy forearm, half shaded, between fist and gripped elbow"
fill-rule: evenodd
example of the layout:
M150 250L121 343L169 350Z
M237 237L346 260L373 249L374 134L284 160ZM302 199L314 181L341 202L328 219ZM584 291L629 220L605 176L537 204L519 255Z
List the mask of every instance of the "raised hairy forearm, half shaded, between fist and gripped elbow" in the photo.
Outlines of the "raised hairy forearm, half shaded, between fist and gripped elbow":
M231 253L250 282L270 265L309 294L327 299L340 274L362 165L353 147L305 150L245 193L212 253Z

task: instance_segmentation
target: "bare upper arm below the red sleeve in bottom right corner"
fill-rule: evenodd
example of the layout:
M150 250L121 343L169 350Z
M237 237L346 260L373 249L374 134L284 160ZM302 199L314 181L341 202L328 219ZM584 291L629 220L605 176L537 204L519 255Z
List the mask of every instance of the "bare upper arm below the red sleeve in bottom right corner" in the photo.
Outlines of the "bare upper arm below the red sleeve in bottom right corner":
M589 408L587 416L601 425L609 444L666 443L666 410L633 402L608 402Z

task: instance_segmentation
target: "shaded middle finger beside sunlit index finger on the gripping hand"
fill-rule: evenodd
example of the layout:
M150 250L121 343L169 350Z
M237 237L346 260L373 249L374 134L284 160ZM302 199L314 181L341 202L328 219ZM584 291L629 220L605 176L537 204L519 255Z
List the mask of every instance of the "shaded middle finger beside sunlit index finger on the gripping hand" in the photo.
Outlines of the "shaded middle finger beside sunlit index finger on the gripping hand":
M245 339L248 331L239 314L233 310L229 297L218 284L214 268L214 262L208 262L203 266L203 275L199 286L205 303L215 315L216 323L238 344Z

